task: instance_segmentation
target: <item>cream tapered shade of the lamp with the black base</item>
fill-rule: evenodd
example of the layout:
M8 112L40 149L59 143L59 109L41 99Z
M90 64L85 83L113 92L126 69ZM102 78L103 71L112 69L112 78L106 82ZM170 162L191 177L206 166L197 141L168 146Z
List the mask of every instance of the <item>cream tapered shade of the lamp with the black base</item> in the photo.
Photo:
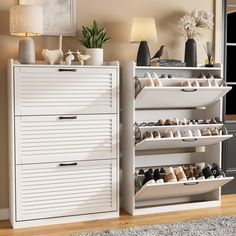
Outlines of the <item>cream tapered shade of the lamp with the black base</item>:
M141 41L157 41L156 24L153 17L135 17L133 19L130 42Z

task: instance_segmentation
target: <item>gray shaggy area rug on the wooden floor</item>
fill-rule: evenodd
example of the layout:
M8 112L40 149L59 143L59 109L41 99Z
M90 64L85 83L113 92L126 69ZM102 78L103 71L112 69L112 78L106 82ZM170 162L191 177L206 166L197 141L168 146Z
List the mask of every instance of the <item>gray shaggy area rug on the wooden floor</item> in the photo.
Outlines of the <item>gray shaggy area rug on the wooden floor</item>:
M236 216L215 217L175 224L72 234L71 236L236 236Z

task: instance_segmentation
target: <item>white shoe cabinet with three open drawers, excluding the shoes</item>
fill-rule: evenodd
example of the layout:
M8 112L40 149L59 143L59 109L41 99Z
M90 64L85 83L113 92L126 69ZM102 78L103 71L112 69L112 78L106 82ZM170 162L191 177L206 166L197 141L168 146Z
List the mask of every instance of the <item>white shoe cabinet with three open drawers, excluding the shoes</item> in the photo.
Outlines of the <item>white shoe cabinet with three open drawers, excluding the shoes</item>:
M171 74L160 79L163 87L143 87L135 98L135 76ZM134 62L123 68L122 76L122 207L132 215L213 207L220 205L220 187L232 178L146 184L135 193L135 173L140 169L205 162L221 166L221 141L231 137L216 136L147 138L135 145L134 124L159 119L222 119L222 97L229 87L182 87L181 81L197 80L200 73L222 76L221 68L138 67ZM217 79L218 84L222 81ZM223 124L141 127L141 132L163 129L203 129Z

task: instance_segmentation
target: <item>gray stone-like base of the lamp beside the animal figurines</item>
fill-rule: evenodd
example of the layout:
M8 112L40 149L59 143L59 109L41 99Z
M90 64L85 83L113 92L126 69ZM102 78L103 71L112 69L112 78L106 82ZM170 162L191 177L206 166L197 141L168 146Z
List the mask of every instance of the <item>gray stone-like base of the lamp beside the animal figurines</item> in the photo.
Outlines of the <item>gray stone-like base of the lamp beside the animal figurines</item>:
M19 41L18 60L21 64L35 64L34 40L25 37Z

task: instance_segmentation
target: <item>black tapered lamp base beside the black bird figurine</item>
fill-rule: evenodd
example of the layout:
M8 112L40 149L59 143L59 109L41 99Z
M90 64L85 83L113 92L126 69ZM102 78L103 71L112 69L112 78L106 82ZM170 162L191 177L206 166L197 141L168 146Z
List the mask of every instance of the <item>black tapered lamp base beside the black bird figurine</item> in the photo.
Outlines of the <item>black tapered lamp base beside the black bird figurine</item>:
M141 41L138 48L137 66L150 66L151 57L147 41Z

